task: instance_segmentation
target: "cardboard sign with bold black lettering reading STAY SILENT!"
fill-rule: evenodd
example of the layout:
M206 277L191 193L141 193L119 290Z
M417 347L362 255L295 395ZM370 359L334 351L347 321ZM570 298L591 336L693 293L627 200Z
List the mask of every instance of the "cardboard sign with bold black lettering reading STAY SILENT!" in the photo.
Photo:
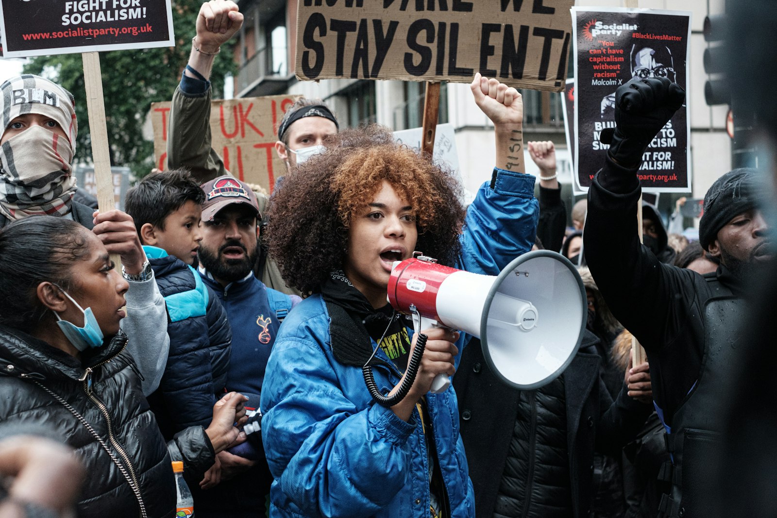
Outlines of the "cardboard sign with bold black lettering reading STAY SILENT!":
M574 0L299 0L297 77L472 82L560 92Z

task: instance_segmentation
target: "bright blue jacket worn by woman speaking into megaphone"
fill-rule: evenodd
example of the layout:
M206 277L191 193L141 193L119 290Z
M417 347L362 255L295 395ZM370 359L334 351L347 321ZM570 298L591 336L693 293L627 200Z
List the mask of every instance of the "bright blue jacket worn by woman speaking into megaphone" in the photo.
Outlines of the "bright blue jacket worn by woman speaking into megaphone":
M531 249L538 222L534 182L494 170L469 207L460 268L493 275ZM267 364L261 407L275 478L270 516L428 518L427 443L417 409L405 422L373 403L361 369L335 359L329 322L322 297L302 301L280 327ZM467 339L462 335L459 349ZM400 374L380 348L378 356L389 365L374 368L386 393ZM475 516L453 389L428 394L427 405L451 517Z

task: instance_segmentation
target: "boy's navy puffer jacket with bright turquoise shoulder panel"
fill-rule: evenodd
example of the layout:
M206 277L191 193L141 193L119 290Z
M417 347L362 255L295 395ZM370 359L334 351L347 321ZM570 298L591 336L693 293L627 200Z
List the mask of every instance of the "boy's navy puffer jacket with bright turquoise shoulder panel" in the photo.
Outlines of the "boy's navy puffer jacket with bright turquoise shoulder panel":
M144 246L165 297L170 353L159 389L148 397L162 435L208 426L229 368L232 329L213 291L191 266L154 246Z

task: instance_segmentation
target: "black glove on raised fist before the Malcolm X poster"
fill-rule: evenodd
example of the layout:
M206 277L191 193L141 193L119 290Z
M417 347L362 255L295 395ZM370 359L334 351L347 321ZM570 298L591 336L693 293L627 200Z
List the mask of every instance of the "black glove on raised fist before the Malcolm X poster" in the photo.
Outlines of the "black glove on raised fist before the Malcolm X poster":
M685 101L685 90L667 78L632 79L615 90L615 129L601 132L610 158L639 165L650 141Z

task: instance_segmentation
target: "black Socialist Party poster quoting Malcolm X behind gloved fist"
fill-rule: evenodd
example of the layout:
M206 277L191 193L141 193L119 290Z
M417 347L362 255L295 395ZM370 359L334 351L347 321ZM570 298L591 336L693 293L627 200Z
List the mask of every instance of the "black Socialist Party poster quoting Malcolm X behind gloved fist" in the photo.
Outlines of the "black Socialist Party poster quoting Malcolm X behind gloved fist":
M615 127L615 89L632 78L668 78L688 92L691 13L653 9L572 10L575 58L575 181L591 186L605 164L601 130ZM691 190L688 97L653 138L639 166L643 191Z

